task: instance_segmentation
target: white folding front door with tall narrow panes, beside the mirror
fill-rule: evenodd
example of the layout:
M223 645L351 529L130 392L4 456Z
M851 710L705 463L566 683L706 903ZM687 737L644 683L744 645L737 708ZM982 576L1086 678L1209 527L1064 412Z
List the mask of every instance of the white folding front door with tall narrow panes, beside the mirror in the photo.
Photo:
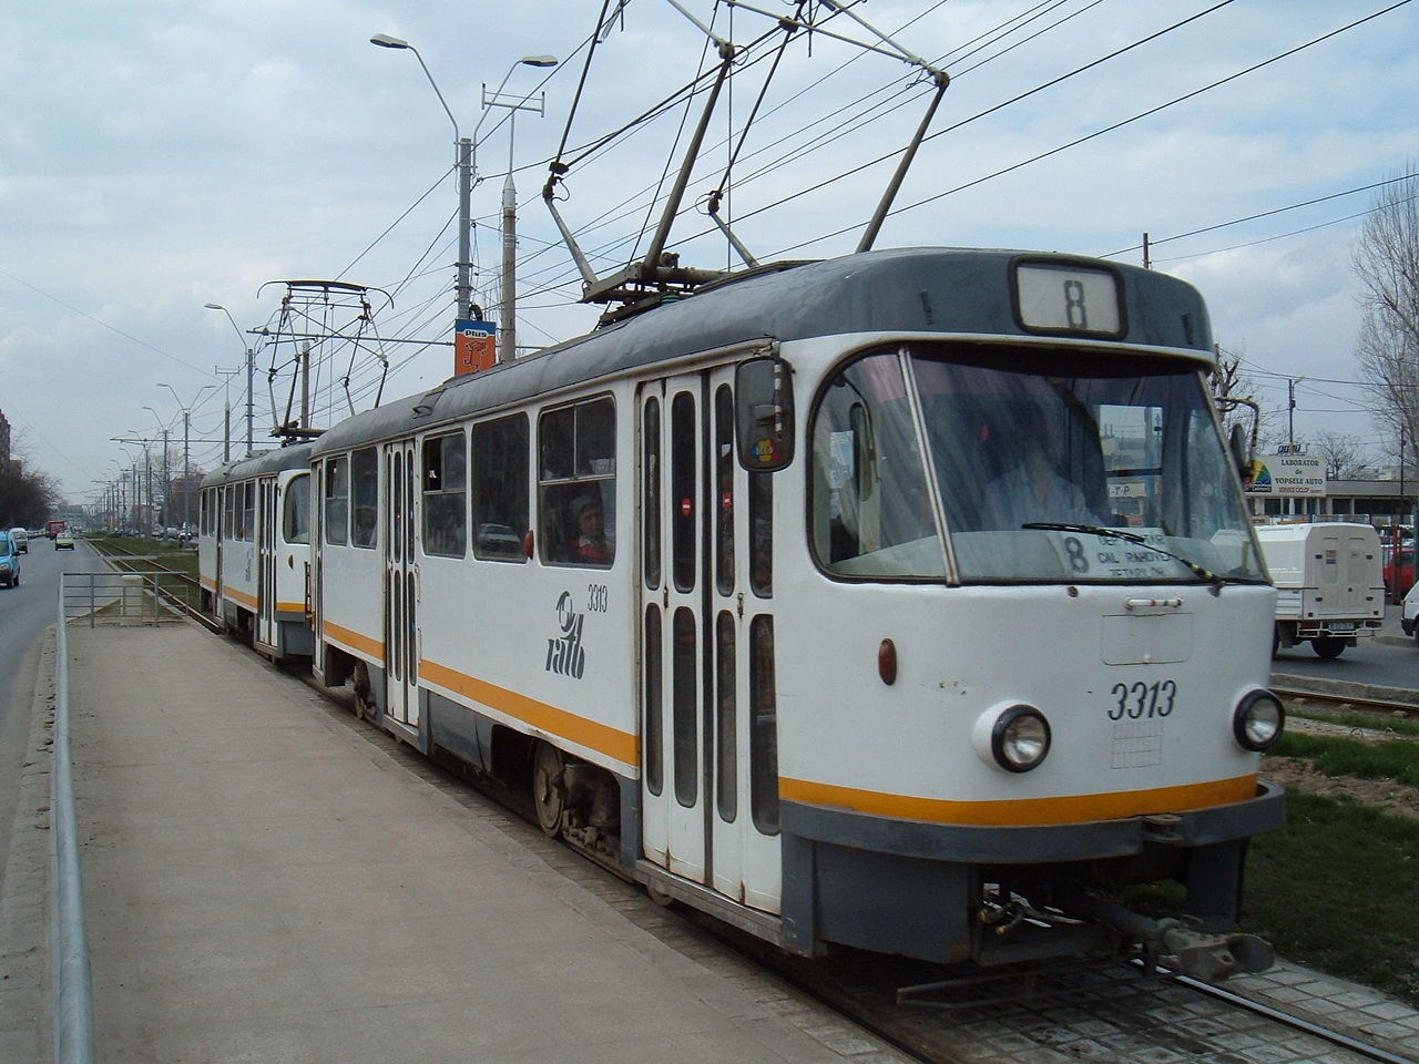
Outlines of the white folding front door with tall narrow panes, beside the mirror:
M639 416L641 844L677 875L776 912L775 718L772 694L755 695L755 682L773 689L772 614L751 589L732 367L644 386Z

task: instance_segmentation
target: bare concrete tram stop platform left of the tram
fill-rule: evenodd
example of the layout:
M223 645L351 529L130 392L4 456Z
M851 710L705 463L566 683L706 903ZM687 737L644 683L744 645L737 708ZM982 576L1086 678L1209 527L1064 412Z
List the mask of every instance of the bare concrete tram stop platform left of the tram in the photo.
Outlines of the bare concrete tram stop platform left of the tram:
M101 1061L902 1060L233 643L70 653Z

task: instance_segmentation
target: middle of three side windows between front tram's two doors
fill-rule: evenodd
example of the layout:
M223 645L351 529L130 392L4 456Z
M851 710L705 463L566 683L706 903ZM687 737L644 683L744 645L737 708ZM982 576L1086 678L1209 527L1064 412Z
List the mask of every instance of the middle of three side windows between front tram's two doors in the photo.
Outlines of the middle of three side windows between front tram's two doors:
M526 414L473 427L473 553L499 562L525 562L528 529Z

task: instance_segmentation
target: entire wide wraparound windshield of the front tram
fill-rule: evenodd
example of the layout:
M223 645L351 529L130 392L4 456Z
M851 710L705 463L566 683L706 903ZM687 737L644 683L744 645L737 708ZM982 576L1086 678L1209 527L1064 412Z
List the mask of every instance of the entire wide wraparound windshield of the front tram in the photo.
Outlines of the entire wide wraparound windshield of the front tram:
M944 532L964 583L1264 580L1229 461L1195 365L884 350L815 410L813 548L867 579L945 579Z

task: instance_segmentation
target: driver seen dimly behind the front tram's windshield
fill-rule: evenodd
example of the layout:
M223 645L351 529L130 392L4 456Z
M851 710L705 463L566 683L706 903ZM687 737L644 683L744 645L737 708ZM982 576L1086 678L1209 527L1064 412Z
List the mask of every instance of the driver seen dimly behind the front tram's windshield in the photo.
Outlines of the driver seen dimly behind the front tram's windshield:
M1043 410L1033 403L1023 404L1017 420L1002 436L1000 447L1013 455L1009 468L986 487L986 528L1015 529L1034 521L1105 523L1080 485L1060 474L1064 433Z

